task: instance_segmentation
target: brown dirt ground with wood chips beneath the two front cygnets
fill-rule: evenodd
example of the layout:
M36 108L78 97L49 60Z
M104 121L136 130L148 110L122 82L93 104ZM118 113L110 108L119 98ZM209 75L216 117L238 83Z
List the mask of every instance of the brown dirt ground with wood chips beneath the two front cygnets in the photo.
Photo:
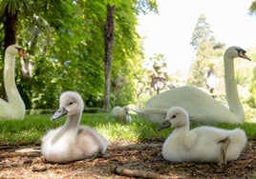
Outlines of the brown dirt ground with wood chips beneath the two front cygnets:
M249 141L241 157L222 169L217 164L167 162L160 154L161 145L160 141L122 141L111 144L102 158L62 165L47 163L39 145L0 145L0 178L136 178L115 174L111 171L115 167L131 169L131 173L135 169L154 172L162 178L256 178L256 141Z

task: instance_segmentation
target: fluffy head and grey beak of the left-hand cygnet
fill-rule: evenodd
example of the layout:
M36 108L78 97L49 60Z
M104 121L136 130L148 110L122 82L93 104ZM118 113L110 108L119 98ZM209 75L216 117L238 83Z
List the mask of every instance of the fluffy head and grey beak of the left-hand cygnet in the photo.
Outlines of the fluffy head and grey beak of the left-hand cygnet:
M57 119L63 115L77 115L82 113L84 104L82 97L78 92L65 91L59 97L59 109L55 111L52 120Z

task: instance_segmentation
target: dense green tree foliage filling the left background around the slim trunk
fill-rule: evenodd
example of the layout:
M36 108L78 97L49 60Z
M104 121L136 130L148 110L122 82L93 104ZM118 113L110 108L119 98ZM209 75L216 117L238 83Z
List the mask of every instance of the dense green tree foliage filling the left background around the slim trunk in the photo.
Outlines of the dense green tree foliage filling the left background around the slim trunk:
M60 92L68 89L80 92L87 106L102 107L103 27L108 3L117 7L111 80L126 79L120 90L111 91L112 96L117 92L120 105L134 101L135 92L130 91L135 91L133 78L141 70L142 61L137 14L157 11L155 0L22 1L26 7L17 0L0 2L11 2L17 8L18 43L32 55L32 79L21 78L18 62L16 70L17 86L27 109L54 109ZM4 33L3 28L0 31Z

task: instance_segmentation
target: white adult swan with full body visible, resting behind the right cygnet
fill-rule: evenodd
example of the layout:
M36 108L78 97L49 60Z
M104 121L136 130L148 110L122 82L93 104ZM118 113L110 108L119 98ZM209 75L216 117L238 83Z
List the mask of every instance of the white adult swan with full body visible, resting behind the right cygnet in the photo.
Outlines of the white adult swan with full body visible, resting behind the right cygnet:
M224 52L224 82L225 94L229 109L217 102L201 89L181 87L169 89L149 99L144 109L131 109L143 118L160 123L164 120L168 109L179 106L185 109L192 121L205 123L226 122L242 124L245 122L245 112L238 96L237 84L234 75L236 57L250 60L245 50L239 47L230 47Z

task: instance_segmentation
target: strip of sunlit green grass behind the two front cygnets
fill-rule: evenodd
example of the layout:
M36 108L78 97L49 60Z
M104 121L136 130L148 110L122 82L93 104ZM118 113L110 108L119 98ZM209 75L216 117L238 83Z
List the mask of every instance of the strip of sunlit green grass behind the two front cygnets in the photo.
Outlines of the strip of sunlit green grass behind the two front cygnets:
M40 138L48 129L55 129L64 124L66 117L51 121L50 114L28 114L23 121L0 121L0 144L32 145L40 144ZM109 142L129 140L133 142L164 140L172 129L158 131L153 124L138 115L132 115L133 122L120 124L115 122L110 113L84 113L81 124L91 126L103 134ZM191 128L200 124L192 124ZM245 129L249 139L256 139L256 123L245 122L243 125L216 124L223 129Z

